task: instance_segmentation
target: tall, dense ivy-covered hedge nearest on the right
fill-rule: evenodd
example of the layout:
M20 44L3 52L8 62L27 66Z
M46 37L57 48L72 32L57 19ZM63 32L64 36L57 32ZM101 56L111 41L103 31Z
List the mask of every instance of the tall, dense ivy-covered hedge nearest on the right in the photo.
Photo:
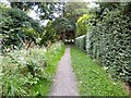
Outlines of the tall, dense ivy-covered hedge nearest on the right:
M127 9L129 4L121 5L122 9L119 10L107 11L103 19L97 19L96 25L86 34L86 52L97 59L114 78L131 85L131 10Z

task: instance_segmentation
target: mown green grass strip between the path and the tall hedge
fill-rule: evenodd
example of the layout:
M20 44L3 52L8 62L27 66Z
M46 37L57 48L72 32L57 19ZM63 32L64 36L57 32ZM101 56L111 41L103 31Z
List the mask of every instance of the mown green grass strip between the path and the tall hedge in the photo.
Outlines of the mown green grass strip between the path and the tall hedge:
M82 96L128 96L121 83L115 83L106 71L86 53L71 47L72 66Z

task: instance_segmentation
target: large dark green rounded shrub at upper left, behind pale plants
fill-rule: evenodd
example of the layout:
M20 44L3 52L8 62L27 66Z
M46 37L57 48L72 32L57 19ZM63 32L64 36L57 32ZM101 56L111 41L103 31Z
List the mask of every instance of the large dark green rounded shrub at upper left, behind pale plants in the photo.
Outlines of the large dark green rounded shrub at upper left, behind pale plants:
M2 50L21 48L25 40L36 41L39 24L20 9L0 4L0 33ZM5 51L4 51L5 52Z

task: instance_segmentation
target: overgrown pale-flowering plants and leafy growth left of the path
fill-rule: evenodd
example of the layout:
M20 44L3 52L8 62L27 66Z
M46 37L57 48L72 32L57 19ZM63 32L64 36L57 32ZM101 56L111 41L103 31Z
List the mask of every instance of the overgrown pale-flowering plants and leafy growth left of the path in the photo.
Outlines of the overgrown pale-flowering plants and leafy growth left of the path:
M3 96L37 96L40 90L34 90L39 84L49 85L52 73L47 69L55 57L63 49L63 44L56 42L49 48L32 48L14 50L2 57L2 95ZM58 60L57 60L58 62ZM56 63L55 63L56 64ZM1 74L0 74L1 76ZM39 85L38 85L39 86ZM46 89L48 90L48 89Z

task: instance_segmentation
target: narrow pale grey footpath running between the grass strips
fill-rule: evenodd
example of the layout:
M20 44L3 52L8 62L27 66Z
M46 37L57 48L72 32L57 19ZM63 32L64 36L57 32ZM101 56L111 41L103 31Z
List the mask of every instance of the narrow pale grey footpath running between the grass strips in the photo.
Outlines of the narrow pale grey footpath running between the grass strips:
M70 46L61 58L49 96L79 96L76 79L71 66Z

